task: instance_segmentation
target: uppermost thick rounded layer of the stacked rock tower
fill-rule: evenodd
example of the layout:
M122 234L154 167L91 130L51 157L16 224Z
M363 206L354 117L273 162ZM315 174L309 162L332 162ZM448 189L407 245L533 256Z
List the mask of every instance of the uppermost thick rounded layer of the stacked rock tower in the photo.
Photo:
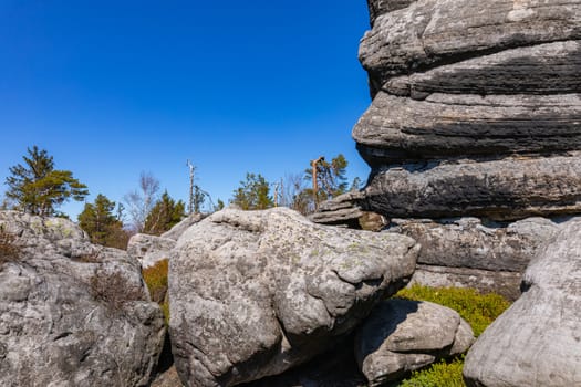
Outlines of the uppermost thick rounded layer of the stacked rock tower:
M507 49L579 40L580 6L580 0L411 2L375 19L361 42L360 61L378 90L394 75Z

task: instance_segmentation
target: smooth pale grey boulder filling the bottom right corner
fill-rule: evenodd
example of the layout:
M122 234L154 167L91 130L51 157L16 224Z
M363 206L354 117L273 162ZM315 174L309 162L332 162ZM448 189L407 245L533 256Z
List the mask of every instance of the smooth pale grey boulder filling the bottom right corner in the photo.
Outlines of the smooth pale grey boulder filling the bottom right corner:
M567 223L523 278L526 292L478 338L470 387L581 385L581 221Z

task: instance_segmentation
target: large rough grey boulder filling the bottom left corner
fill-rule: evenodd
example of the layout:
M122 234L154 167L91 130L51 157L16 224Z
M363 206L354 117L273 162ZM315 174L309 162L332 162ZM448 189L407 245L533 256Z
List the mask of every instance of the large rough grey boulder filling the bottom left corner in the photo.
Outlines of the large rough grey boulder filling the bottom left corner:
M0 385L148 385L165 328L137 262L64 219L0 223L20 247L0 268Z

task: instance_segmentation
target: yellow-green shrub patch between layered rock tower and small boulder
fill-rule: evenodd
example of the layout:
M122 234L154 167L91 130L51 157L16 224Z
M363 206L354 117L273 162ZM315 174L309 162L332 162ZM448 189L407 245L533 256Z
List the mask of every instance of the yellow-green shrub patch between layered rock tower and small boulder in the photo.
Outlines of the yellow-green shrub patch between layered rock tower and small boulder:
M510 303L499 294L480 294L467 287L428 287L414 284L411 289L403 289L396 297L430 301L455 310L473 327L478 337Z

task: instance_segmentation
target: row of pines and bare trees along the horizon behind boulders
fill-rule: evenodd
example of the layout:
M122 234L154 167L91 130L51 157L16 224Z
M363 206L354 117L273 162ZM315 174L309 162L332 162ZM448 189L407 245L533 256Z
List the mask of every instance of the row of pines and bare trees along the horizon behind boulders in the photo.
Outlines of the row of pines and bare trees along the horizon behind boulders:
M73 177L70 170L55 169L53 157L37 146L28 149L23 164L9 168L6 179L8 189L2 209L15 209L42 217L66 217L59 211L69 200L84 201L89 196L87 186ZM136 232L159 236L168 231L188 213L217 211L226 205L216 203L208 192L194 184L190 167L189 202L173 199L160 192L160 184L152 174L142 172L138 188L115 202L98 194L93 202L85 202L79 215L79 226L87 232L94 243L125 249L129 237ZM243 210L267 209L277 206L292 208L304 215L313 212L319 203L359 189L360 179L349 184L347 160L338 155L328 161L324 157L311 160L302 174L288 175L269 182L260 174L247 174L228 202ZM205 207L205 205L207 205Z

